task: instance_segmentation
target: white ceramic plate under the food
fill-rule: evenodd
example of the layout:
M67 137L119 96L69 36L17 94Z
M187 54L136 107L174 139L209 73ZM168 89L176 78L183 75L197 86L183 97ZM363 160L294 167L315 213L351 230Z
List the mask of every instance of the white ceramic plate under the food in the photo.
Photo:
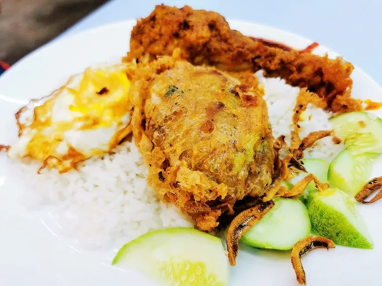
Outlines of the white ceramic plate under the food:
M0 78L0 143L11 143L17 130L13 114L29 99L49 94L66 79L86 67L118 61L129 49L135 21L103 26L63 38L30 54ZM246 35L283 42L302 49L311 43L299 36L256 24L231 21L231 27ZM319 46L314 53L329 52ZM360 51L361 53L361 51ZM353 71L353 95L382 101L380 86L363 71ZM57 237L44 225L39 213L31 213L19 202L21 194L9 160L0 155L0 285L151 285L133 272L112 267L96 251L79 252L71 241ZM382 169L382 168L381 168ZM27 190L26 190L27 191ZM375 240L374 250L337 246L316 250L303 259L309 286L381 286L382 203L360 205ZM48 222L48 224L51 222ZM154 284L153 284L154 285ZM232 286L297 285L289 251L255 250L243 247L231 269Z

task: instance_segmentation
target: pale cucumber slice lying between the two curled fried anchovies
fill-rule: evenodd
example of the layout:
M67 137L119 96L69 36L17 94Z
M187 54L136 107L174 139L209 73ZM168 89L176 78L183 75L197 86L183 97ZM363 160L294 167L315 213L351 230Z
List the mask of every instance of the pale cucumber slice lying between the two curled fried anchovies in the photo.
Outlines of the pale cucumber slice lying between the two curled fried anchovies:
M252 247L287 250L310 233L305 206L299 200L278 198L275 206L241 240Z

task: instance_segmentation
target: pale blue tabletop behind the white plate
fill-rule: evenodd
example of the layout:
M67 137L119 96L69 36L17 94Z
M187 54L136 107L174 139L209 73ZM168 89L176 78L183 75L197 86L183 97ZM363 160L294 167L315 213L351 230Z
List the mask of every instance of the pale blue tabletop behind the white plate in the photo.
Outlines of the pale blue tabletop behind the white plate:
M214 10L227 19L274 26L344 55L382 84L381 0L112 0L63 36L99 25L146 17L155 4Z

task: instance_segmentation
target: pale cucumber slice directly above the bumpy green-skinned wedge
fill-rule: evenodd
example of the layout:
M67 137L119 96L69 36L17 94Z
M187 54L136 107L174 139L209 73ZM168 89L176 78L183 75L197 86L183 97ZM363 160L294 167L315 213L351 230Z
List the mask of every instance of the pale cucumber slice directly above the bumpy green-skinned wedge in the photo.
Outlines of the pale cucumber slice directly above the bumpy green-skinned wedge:
M377 157L376 153L354 155L348 149L341 151L329 166L330 184L355 195L370 179Z

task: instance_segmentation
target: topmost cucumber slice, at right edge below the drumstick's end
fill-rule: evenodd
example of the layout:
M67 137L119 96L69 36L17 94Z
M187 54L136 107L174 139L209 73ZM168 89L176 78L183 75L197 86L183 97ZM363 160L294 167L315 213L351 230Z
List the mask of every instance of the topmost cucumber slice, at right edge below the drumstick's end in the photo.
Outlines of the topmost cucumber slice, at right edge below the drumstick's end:
M382 120L367 112L344 113L330 119L334 133L353 154L382 153Z

